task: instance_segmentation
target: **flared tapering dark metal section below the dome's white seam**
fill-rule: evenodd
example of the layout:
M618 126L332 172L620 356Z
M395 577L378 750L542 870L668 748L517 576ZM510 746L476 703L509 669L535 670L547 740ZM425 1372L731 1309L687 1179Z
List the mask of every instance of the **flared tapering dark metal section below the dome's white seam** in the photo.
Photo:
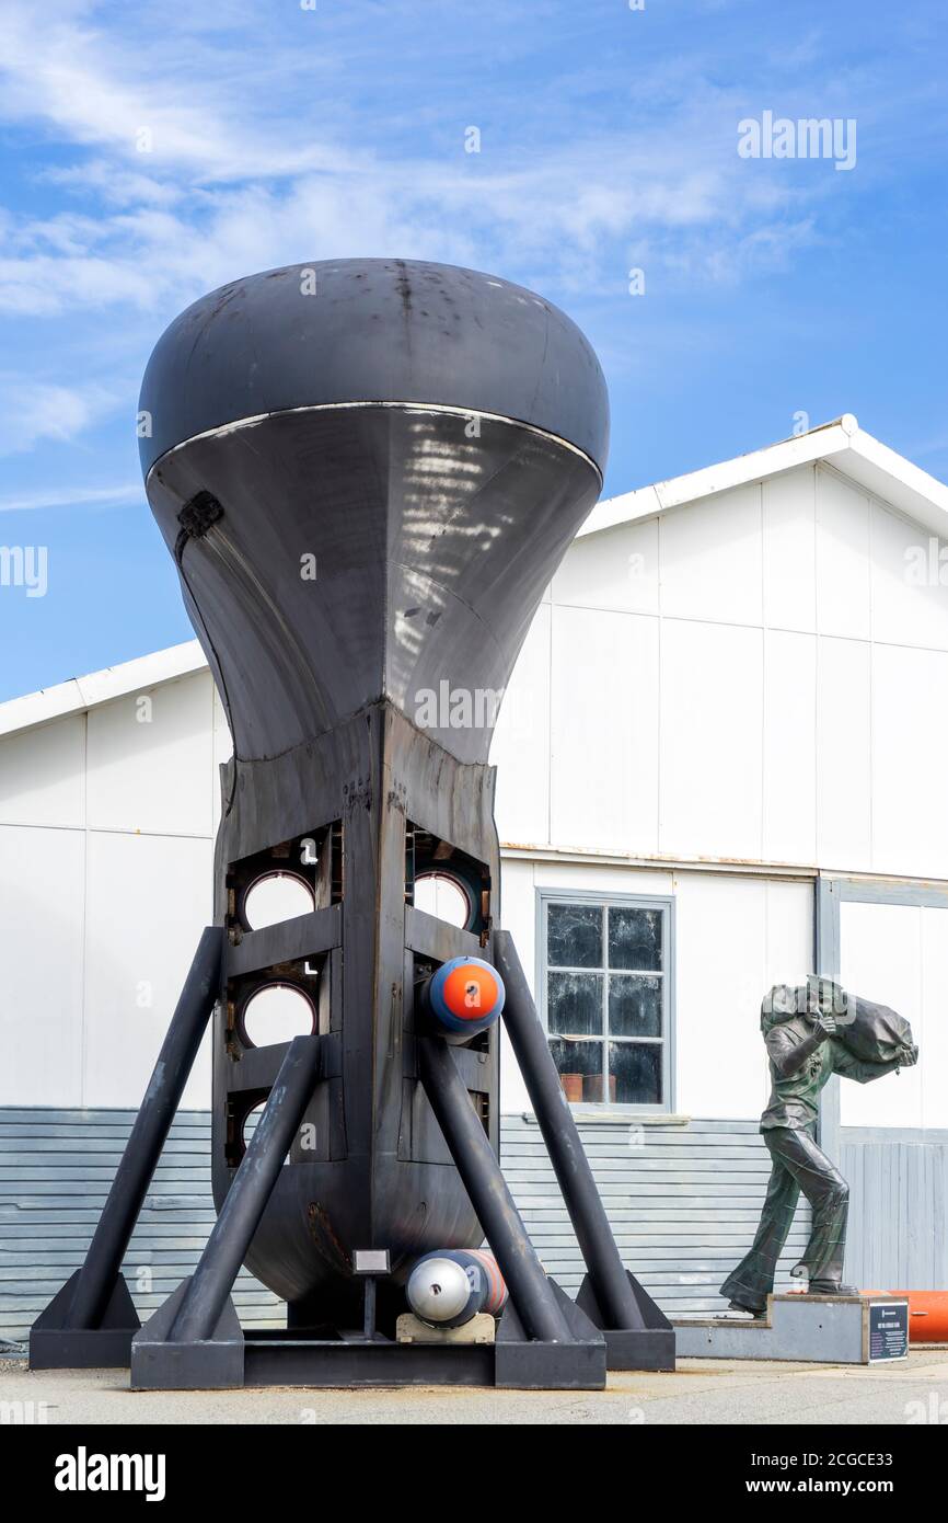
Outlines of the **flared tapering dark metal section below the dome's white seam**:
M487 760L600 475L517 422L475 422L469 439L466 414L434 408L289 411L152 468L149 501L239 758L282 755L385 696L453 755ZM181 545L180 513L202 490L224 513ZM450 722L452 693L470 694L473 722Z

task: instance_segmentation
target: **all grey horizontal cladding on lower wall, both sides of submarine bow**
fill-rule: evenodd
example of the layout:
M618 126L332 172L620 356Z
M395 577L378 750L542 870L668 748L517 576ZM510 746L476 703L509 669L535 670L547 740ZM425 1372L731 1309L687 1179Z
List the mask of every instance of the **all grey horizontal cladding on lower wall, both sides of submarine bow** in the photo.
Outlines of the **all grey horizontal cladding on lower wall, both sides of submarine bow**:
M132 1110L0 1109L0 1339L21 1343L78 1269L134 1121ZM625 1263L673 1314L720 1310L718 1285L758 1223L770 1159L753 1121L644 1125L581 1121L580 1135ZM575 1293L583 1267L543 1139L504 1116L504 1173L546 1269ZM190 1273L215 1220L210 1116L181 1112L125 1263L146 1317ZM806 1237L800 1208L781 1279ZM151 1288L138 1270L151 1272ZM283 1304L250 1275L243 1322L280 1323Z

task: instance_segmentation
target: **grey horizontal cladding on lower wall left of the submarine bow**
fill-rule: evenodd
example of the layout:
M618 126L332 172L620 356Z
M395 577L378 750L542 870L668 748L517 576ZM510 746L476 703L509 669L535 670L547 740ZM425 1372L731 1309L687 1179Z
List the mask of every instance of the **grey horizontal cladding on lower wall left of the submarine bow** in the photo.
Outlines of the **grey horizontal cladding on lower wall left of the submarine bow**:
M134 1119L134 1110L0 1107L0 1340L24 1343L82 1263ZM123 1266L143 1320L190 1275L213 1221L210 1113L183 1110ZM283 1323L283 1302L247 1272L234 1301L248 1325Z

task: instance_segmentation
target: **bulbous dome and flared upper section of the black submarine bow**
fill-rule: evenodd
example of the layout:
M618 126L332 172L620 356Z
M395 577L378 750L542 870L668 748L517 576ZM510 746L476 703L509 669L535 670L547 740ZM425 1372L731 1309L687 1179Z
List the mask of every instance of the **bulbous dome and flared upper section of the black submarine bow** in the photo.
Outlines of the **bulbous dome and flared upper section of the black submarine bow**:
M487 758L606 466L606 384L571 318L449 265L271 270L175 318L140 419L148 496L239 760L379 699L458 760ZM461 723L455 691L472 694Z

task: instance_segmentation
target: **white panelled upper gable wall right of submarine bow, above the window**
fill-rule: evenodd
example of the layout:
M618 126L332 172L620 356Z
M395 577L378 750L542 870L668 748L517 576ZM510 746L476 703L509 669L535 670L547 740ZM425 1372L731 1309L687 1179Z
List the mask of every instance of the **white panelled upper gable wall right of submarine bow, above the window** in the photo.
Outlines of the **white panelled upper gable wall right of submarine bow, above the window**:
M948 730L928 701L948 659L942 547L931 585L911 550L930 556L921 525L813 465L577 541L552 583L551 748L546 608L501 720L502 839L948 876L948 819L904 815L907 755L924 812Z

